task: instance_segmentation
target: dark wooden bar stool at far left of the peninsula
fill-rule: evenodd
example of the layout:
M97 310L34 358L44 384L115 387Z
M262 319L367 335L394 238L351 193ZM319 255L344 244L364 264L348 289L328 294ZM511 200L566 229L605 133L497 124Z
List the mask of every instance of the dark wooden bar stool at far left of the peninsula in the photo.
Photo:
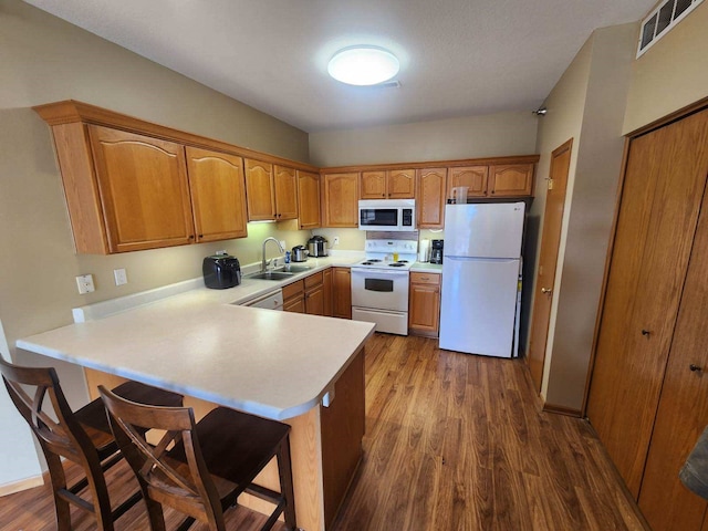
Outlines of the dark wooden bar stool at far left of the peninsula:
M93 513L100 530L113 531L113 522L137 503L142 493L138 490L115 510L111 509L103 472L123 456L111 433L101 398L74 413L53 367L21 367L0 357L0 372L10 398L34 431L44 452L52 481L58 530L72 529L70 503L73 503ZM156 405L183 404L181 395L137 382L126 382L114 392ZM45 400L48 396L49 400ZM66 486L62 457L84 469L85 477L71 487ZM79 496L86 487L93 502Z

